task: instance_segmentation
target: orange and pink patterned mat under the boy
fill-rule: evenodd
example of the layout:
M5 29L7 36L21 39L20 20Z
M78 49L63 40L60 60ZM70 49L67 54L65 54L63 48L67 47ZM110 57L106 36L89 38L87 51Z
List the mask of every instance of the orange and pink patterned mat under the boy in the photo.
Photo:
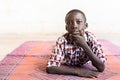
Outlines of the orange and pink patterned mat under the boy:
M0 80L120 80L120 47L106 40L100 42L107 62L98 78L47 74L45 68L55 41L27 41L0 62Z

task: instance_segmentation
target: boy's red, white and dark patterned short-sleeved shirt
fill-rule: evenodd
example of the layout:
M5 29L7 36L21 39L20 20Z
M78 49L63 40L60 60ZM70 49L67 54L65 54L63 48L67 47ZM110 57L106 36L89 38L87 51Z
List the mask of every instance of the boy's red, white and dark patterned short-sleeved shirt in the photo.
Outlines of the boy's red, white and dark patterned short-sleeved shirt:
M95 36L90 32L85 32L85 39L88 46L91 48L93 53L102 62L106 61L106 57L103 54L100 43ZM71 45L64 36L61 36L56 41L56 46L52 51L52 55L48 61L47 67L60 66L62 63L71 66L81 66L89 61L89 57L85 54L85 51L81 47L75 48Z

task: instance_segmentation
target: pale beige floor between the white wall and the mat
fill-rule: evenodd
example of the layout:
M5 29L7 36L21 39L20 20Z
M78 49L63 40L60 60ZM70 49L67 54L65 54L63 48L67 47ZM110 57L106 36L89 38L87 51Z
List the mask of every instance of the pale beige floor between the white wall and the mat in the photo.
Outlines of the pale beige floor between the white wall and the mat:
M1 33L0 34L0 61L12 52L15 48L19 47L25 41L40 41L49 40L55 41L63 33ZM95 32L98 39L106 39L112 43L120 46L120 33L100 33Z

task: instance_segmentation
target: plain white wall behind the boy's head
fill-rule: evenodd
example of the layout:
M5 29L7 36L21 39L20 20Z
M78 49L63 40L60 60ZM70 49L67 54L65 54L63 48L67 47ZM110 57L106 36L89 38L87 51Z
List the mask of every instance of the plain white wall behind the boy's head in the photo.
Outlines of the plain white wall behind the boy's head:
M0 33L64 32L71 9L85 12L90 30L119 32L119 0L0 0Z

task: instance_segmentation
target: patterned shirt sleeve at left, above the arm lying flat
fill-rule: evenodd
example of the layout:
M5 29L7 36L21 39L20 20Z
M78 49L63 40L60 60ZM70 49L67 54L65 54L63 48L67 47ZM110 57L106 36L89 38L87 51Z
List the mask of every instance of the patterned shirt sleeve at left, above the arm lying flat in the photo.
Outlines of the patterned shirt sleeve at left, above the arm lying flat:
M50 59L48 60L47 67L60 66L64 59L65 41L63 38L58 38L56 46L54 47Z

